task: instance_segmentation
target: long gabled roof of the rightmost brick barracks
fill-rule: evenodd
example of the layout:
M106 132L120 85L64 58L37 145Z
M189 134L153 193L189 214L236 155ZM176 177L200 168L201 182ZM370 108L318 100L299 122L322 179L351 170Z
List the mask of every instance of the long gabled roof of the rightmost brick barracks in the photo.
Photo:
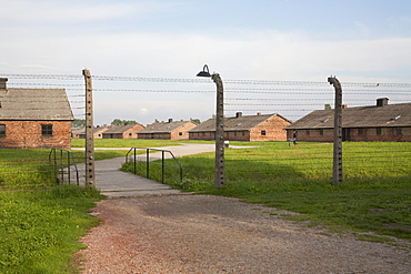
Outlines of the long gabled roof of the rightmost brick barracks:
M411 103L358 106L342 110L342 128L411 126ZM334 110L317 110L287 130L334 128Z

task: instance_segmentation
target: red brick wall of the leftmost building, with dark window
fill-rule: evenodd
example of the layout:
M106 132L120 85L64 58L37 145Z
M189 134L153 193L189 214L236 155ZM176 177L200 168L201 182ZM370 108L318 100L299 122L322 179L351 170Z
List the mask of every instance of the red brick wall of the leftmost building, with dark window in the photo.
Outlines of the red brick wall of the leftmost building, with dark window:
M0 121L0 124L6 124L0 148L71 149L71 121ZM42 135L41 124L52 124L52 135Z

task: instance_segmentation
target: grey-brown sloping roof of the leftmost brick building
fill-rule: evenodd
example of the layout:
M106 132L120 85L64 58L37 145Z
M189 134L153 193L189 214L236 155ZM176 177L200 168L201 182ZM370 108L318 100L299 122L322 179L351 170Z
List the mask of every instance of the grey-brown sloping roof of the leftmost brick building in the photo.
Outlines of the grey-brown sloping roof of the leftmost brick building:
M72 121L63 89L0 90L0 120Z

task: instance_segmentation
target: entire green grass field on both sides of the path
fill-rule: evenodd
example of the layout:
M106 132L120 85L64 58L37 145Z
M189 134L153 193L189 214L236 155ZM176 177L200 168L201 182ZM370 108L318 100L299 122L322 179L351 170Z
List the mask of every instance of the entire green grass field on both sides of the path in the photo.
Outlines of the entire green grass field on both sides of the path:
M73 142L81 148L83 141ZM98 142L97 148L180 143ZM332 144L231 144L255 148L227 149L224 187L213 186L214 153L179 159L183 166L182 182L176 179L174 169L167 170L166 182L183 191L235 196L271 206L264 210L267 214L282 214L278 210L298 212L283 217L332 231L350 231L363 240L392 241L361 232L411 241L411 143L343 143L344 182L338 186L331 185ZM56 185L44 168L49 152L0 150L0 273L77 273L73 253L83 247L78 239L99 223L87 213L102 197L84 187ZM83 161L82 151L73 153L77 162ZM96 150L96 160L124 156L124 153ZM159 170L157 165L151 170L158 181ZM11 187L16 185L20 187Z

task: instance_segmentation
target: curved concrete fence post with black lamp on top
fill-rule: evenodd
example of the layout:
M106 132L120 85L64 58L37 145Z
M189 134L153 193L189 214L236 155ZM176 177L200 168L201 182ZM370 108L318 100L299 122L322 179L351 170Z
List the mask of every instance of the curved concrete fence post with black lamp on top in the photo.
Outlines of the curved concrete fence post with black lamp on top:
M211 78L217 85L215 106L215 187L224 185L224 90L220 74L210 74L209 67L204 64L197 77Z

